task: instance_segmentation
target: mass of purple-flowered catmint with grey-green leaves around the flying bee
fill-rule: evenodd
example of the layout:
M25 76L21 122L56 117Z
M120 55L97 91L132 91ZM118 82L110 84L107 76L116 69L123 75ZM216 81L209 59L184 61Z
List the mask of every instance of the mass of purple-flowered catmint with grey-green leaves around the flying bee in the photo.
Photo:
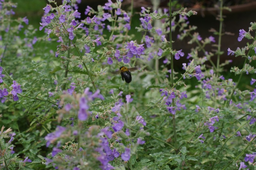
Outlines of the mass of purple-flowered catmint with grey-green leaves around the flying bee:
M122 1L82 18L81 0L48 0L34 28L0 0L0 169L255 169L256 23L221 51L223 0L210 37L171 0L139 18Z

